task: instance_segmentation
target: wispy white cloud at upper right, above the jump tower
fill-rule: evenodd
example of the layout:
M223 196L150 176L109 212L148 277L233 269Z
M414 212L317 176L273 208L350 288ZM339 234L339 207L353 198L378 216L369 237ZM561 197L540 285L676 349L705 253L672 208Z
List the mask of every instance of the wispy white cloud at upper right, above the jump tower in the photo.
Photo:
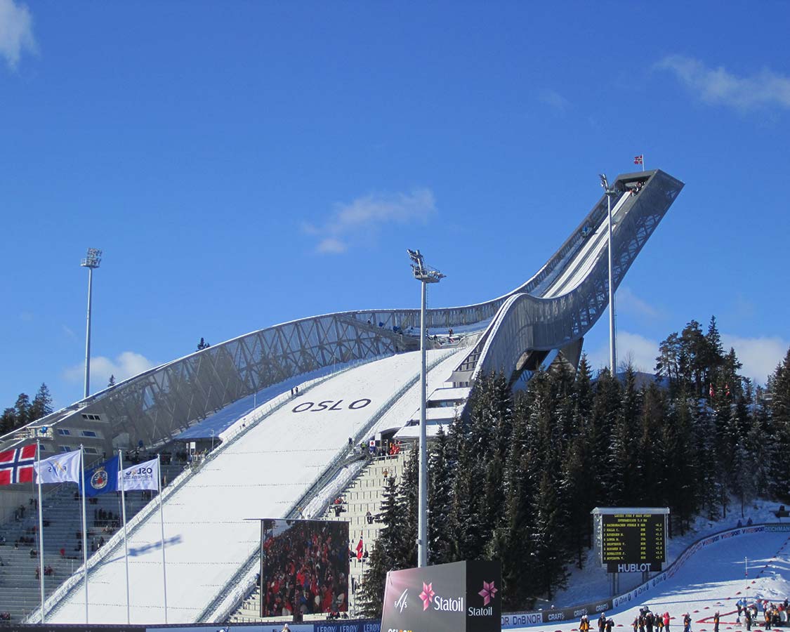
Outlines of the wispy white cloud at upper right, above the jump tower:
M670 70L706 103L721 103L747 111L758 107L790 108L790 77L763 69L748 77L738 77L724 69L709 68L698 59L670 55L656 64Z

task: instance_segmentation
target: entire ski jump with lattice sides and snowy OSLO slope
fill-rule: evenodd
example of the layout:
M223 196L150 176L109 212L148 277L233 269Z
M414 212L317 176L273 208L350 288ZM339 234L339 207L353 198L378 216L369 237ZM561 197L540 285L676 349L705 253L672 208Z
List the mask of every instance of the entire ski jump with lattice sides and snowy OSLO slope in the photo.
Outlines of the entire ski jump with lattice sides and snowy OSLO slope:
M616 288L683 183L655 170L620 175L613 186L618 191L612 200ZM607 217L604 195L546 264L513 292L485 303L427 310L431 333L452 328L472 343L435 344L429 355L431 390L446 386L448 392L468 393L488 371L504 371L514 382L550 352L577 363L585 333L608 307ZM231 405L245 412L256 408L244 417L249 427L236 423L238 437L164 494L167 621L214 620L258 542L257 523L245 518L293 517L295 503L305 502L321 476L337 465L348 438L356 440L382 424L408 423L408 411L419 407L418 347L419 310L303 318L146 371L36 425L98 431L98 453L110 453L162 445ZM291 387L306 382L312 386L290 399ZM250 400L254 404L245 408ZM403 412L401 419L393 419L396 411ZM68 440L55 433L47 450L62 450ZM14 436L2 437L0 447L15 442ZM130 535L131 623L164 622L159 542L159 514L152 512ZM100 551L100 560L88 562L90 623L126 621L122 551L116 537ZM50 623L85 623L85 593L77 581L68 583L47 604ZM34 614L31 623L35 619Z

